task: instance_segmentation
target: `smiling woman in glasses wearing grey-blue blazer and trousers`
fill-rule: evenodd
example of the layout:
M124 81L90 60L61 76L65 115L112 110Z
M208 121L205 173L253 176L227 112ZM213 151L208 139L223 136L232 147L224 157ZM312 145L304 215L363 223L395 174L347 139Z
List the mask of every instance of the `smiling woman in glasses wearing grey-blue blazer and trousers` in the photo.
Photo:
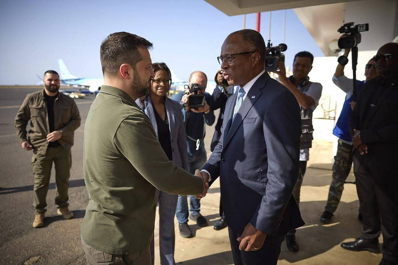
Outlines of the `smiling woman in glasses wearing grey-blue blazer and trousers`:
M181 106L169 99L167 94L172 82L170 69L164 62L152 64L155 77L151 81L149 94L136 103L148 115L156 136L169 160L189 171L187 138ZM174 261L174 215L178 195L156 191L159 204L159 248L161 264L176 264ZM152 265L154 264L154 239L150 244Z

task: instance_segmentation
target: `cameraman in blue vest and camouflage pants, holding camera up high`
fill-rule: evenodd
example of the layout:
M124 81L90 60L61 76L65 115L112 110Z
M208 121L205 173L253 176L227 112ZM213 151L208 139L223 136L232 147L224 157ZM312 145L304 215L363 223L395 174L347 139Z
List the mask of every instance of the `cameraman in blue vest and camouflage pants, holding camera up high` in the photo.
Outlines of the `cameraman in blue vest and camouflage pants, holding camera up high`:
M344 56L348 58L350 49L344 50ZM357 97L362 87L366 82L377 77L379 74L376 71L375 61L372 59L365 66L365 77L363 81L356 80ZM344 65L338 64L336 72L332 78L332 81L336 86L343 90L347 95L339 119L336 122L336 126L333 129L333 134L336 135L338 140L337 153L334 157L334 163L332 166L332 183L329 188L328 201L326 202L325 210L320 217L320 221L324 224L329 224L333 213L336 211L339 205L341 194L343 193L344 181L347 179L348 174L351 170L352 158L353 158L353 145L351 135L349 134L348 119L355 105L353 95L353 81L344 75ZM358 214L358 219L362 220L361 213Z

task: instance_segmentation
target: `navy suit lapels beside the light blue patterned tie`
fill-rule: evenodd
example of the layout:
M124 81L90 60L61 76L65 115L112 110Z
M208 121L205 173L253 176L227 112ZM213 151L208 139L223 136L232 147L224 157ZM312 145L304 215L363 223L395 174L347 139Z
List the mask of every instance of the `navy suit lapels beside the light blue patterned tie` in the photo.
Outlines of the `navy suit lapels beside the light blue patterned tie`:
M236 114L234 121L232 122L232 115L234 113L236 97L238 96L238 92L234 94L235 104L233 104L233 107L231 108L230 111L230 115L228 115L228 123L230 122L232 123L230 125L230 129L228 130L225 141L223 143L224 146L226 146L228 142L231 140L232 136L236 133L236 130L238 130L243 119L246 117L250 109L253 107L254 103L256 103L257 99L260 97L261 95L260 89L265 86L265 83L267 82L268 78L269 75L267 74L267 72L265 72L253 84L252 88L250 88L248 94L246 95L246 98L242 102L242 105L240 106L240 109L238 110L238 113Z

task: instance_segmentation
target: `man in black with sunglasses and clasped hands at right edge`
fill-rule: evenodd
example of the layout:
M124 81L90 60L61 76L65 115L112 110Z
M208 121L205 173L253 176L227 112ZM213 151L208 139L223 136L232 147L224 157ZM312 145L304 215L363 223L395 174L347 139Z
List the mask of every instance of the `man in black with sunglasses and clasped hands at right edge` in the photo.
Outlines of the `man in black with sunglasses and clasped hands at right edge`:
M373 57L380 76L362 88L349 117L354 174L361 204L362 235L341 247L379 253L380 264L398 263L398 43L387 43Z

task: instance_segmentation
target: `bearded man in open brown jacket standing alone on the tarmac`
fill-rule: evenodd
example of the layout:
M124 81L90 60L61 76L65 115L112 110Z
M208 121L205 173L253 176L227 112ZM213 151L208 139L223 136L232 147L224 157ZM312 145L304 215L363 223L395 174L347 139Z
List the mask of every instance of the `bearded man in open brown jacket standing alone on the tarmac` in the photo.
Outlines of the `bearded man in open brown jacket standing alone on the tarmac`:
M59 93L59 75L53 70L43 77L44 89L28 94L15 117L15 128L21 147L33 150L32 170L35 175L33 186L33 227L44 225L51 167L55 165L57 214L65 219L73 217L68 210L68 186L72 156L73 134L80 126L80 115L76 103L70 97ZM30 120L29 133L26 126Z

